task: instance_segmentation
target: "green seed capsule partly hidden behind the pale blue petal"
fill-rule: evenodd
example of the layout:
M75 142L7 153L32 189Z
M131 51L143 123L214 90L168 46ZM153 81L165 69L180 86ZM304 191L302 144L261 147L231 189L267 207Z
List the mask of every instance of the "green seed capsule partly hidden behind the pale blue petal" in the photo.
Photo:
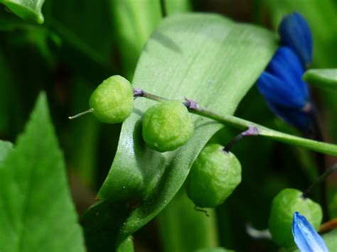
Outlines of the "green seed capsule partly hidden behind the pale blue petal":
M269 231L272 239L285 248L294 246L291 223L294 212L300 212L317 230L322 220L322 209L319 204L309 198L302 197L302 192L287 188L279 192L272 201L269 216Z

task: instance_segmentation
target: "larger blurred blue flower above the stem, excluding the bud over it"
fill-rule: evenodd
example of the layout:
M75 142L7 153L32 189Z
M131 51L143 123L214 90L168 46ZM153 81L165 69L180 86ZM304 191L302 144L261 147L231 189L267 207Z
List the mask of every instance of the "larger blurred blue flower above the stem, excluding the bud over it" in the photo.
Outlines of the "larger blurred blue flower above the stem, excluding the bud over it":
M307 131L312 106L309 89L301 77L304 67L291 48L281 46L257 80L257 88L269 108L284 121Z

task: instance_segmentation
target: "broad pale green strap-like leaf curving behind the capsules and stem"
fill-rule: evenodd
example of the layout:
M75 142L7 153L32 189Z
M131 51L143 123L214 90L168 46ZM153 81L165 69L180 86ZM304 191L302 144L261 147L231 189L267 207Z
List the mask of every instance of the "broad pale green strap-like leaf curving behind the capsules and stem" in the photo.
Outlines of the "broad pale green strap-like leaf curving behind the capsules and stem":
M213 111L233 114L276 48L275 35L262 28L217 15L173 15L144 46L132 83L162 97L188 97ZM101 200L82 219L88 246L95 251L104 251L105 244L118 246L154 218L178 192L208 139L223 128L193 115L192 138L178 150L158 153L141 138L141 115L153 104L136 100L98 194Z

